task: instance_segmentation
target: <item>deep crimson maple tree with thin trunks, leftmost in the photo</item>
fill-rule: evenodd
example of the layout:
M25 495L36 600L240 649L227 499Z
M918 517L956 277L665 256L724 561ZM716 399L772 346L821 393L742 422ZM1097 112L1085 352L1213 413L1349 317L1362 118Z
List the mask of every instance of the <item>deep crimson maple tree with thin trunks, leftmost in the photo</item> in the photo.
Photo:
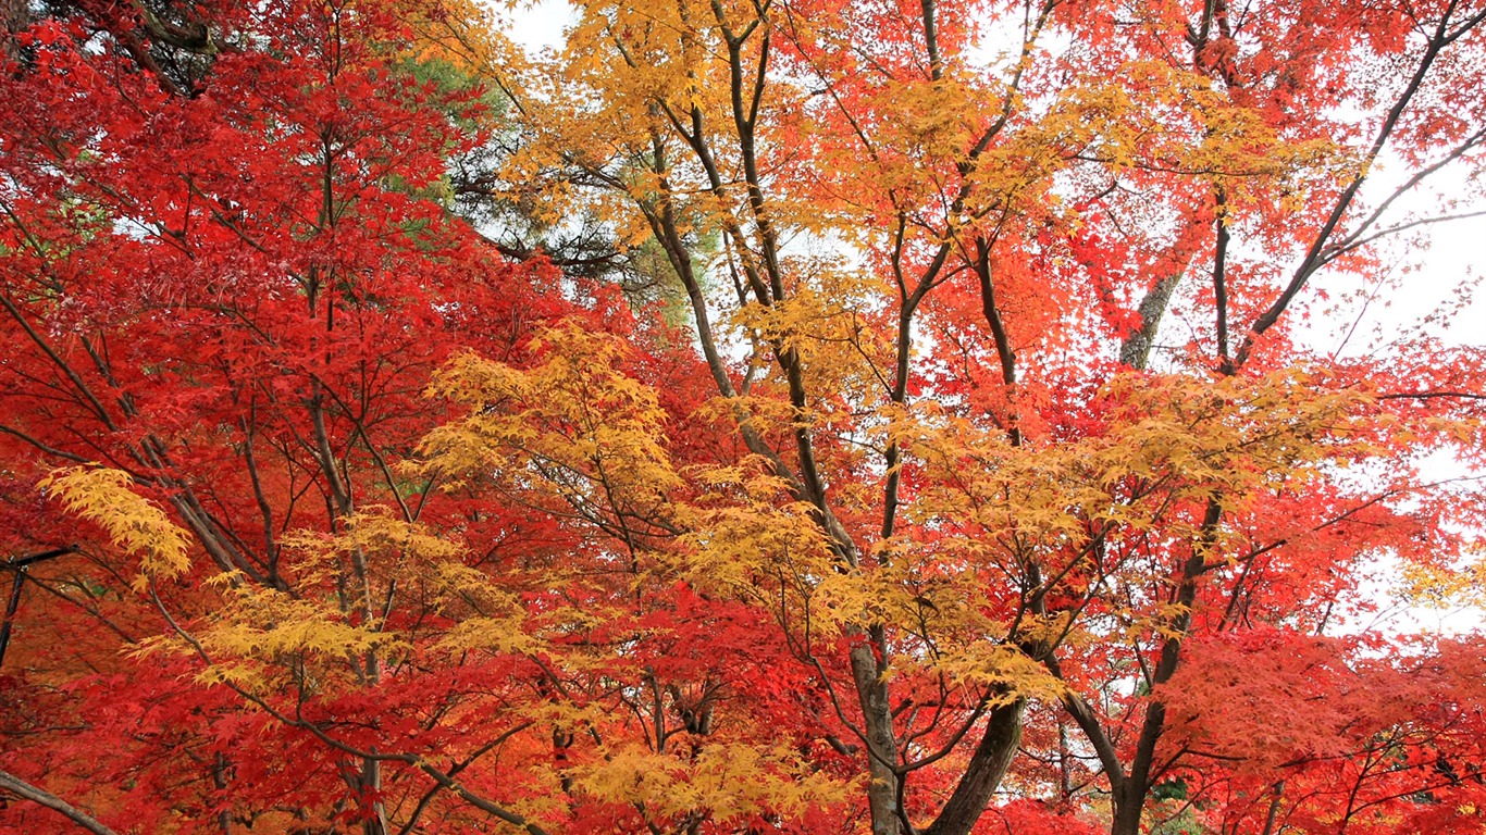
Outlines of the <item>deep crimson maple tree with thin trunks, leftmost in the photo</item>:
M419 758L465 756L432 743L446 721L483 722L459 725L470 750L510 731L462 707L484 685L458 667L422 679L432 691L382 683L377 634L419 628L434 594L398 559L416 539L394 535L426 486L394 467L432 428L421 392L456 349L501 357L605 306L575 309L437 202L481 103L421 77L409 19L429 9L193 4L220 42L195 88L141 58L162 48L150 10L94 12L33 27L6 80L7 529L27 551L82 545L30 572L48 596L7 658L7 767L137 831L382 832L388 802L403 826L425 792L474 798L462 767ZM352 532L372 539L311 545ZM199 624L223 624L202 654L259 628L242 640L267 669L150 652ZM254 700L287 713L244 712ZM325 732L363 718L426 744L355 753ZM21 829L56 825L18 811Z

